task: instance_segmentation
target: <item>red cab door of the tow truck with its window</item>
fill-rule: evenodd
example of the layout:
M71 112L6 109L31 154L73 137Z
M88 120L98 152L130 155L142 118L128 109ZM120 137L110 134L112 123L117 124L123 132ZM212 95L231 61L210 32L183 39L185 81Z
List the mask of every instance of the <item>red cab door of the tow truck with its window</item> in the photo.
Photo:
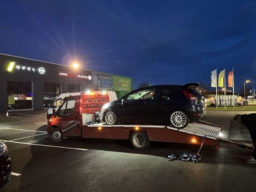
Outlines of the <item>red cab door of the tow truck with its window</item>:
M58 125L63 136L80 136L77 97L66 99L56 112Z

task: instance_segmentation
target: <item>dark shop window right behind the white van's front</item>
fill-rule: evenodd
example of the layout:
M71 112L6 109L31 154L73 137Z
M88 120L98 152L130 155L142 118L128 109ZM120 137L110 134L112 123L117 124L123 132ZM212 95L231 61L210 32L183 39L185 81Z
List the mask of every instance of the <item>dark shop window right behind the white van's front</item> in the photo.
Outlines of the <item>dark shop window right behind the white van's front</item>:
M61 93L61 84L44 83L44 108L50 108L56 97Z

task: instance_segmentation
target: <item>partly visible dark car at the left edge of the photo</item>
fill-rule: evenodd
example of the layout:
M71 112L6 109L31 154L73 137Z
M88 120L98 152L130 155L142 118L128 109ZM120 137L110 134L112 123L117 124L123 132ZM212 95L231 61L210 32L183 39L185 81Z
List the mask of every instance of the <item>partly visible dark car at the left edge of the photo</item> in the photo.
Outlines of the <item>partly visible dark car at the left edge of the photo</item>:
M0 188L3 187L11 178L12 160L8 155L6 145L0 141Z

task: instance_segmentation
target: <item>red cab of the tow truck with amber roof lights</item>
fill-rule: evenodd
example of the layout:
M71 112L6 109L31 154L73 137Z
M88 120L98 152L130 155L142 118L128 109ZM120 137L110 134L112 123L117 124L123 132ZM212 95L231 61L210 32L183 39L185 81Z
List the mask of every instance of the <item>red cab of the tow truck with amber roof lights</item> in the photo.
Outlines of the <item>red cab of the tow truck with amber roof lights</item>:
M109 102L108 94L89 93L65 97L47 120L47 132L58 142L65 136L81 136L81 125L100 122L99 111ZM86 117L86 118L84 118Z

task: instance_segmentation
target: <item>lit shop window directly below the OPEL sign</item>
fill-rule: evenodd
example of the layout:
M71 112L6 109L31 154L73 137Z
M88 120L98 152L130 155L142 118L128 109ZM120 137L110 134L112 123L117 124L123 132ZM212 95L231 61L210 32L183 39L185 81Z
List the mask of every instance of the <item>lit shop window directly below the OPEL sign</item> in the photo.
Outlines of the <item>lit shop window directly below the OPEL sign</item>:
M8 110L33 108L32 81L7 81L7 95Z

